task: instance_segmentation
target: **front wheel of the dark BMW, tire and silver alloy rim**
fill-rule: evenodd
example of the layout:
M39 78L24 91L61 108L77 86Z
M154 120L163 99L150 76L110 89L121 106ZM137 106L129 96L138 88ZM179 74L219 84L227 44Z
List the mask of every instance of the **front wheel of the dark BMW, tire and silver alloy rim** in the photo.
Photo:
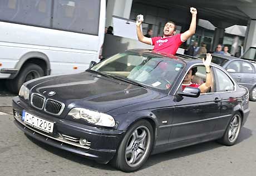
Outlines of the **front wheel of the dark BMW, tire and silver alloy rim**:
M140 120L126 132L111 164L123 172L138 170L151 153L154 130L147 120Z

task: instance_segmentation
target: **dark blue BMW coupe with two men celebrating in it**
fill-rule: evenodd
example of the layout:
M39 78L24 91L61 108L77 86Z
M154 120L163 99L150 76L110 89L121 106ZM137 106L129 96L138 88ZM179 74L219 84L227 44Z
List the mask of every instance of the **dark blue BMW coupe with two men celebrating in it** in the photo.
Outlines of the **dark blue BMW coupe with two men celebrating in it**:
M248 89L211 64L209 92L182 90L194 67L195 81L204 82L201 59L138 49L79 74L37 78L13 98L14 123L43 143L124 172L150 154L215 139L235 144L250 112Z

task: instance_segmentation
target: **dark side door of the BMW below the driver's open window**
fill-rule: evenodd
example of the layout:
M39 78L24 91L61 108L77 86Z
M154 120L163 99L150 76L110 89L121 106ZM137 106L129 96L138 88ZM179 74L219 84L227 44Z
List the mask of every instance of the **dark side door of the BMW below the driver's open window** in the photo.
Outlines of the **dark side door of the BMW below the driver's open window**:
M209 92L201 94L198 98L179 97L177 93L175 95L169 143L181 142L186 145L210 135L214 129L212 119L220 115L219 94Z

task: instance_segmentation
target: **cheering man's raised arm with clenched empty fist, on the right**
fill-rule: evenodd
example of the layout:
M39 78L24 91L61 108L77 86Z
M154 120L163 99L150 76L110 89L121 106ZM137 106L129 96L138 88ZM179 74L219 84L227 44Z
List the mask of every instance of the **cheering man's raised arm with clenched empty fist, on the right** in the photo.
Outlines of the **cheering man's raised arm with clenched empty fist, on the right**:
M196 11L196 8L190 7L190 13L192 14L192 19L191 19L189 30L181 34L181 39L183 41L186 41L189 37L191 37L191 36L193 36L193 34L195 34L196 14L198 12Z

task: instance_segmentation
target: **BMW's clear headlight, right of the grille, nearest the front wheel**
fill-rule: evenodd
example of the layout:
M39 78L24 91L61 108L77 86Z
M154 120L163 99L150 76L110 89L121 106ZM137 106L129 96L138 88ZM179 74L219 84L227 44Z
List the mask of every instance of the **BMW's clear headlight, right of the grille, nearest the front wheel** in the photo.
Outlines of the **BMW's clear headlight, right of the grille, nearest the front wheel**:
M68 115L71 115L74 119L84 119L89 123L101 125L105 127L114 127L115 120L111 115L99 113L89 109L73 108Z

